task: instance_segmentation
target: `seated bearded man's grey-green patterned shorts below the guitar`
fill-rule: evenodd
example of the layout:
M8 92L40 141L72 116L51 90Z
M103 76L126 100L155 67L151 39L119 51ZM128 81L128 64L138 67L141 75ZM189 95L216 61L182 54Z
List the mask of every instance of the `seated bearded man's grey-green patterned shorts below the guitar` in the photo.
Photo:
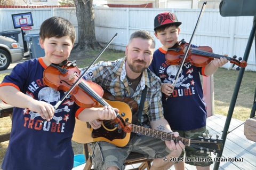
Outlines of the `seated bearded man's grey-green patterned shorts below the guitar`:
M134 133L125 147L116 147L100 141L92 143L92 149L93 167L98 170L107 169L110 166L125 169L124 162L131 151L141 153L148 159L163 158L170 153L164 141L143 135L137 136Z

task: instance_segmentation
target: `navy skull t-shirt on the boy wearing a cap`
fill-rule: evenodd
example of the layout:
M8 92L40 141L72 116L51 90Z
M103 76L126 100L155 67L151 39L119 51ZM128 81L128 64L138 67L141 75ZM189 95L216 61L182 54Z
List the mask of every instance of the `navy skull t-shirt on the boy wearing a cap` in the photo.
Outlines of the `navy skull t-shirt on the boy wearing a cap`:
M158 48L154 52L149 69L161 78L162 83L172 84L179 65L170 65L165 59L165 54L166 51ZM204 68L186 62L167 101L166 95L163 94L164 117L172 129L188 131L206 125L207 114L199 77L199 74L204 74L203 70Z

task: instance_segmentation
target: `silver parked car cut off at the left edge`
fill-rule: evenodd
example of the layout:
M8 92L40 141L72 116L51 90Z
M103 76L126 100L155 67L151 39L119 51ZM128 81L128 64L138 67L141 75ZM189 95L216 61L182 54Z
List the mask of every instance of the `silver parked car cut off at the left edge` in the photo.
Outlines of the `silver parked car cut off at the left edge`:
M24 49L12 38L0 36L0 70L5 70L10 63L22 60Z

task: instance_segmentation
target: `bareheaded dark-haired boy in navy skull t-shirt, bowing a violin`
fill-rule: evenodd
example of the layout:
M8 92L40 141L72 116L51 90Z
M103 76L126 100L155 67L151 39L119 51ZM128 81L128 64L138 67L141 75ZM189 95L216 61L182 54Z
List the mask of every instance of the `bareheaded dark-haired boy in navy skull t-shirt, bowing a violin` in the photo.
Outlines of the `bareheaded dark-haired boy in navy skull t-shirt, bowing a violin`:
M79 107L71 95L58 108L53 107L65 92L46 86L43 72L52 63L68 59L75 29L68 20L52 17L42 23L39 36L45 56L17 64L0 84L0 99L14 106L3 170L72 169L75 117L86 122L116 117L109 107Z

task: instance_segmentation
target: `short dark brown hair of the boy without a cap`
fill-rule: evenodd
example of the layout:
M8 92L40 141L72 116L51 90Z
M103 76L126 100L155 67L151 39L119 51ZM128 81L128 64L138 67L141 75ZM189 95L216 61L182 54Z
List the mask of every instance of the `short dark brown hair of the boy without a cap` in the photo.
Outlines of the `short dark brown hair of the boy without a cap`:
M76 32L74 26L67 19L62 17L51 17L42 23L39 36L43 40L51 37L61 38L69 36L72 43L74 43Z

